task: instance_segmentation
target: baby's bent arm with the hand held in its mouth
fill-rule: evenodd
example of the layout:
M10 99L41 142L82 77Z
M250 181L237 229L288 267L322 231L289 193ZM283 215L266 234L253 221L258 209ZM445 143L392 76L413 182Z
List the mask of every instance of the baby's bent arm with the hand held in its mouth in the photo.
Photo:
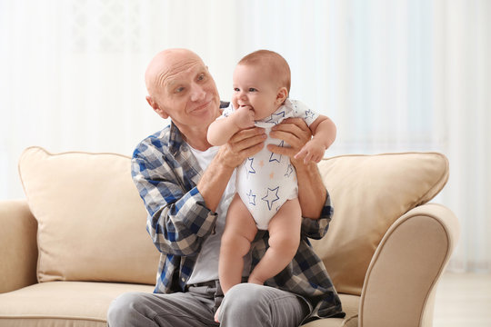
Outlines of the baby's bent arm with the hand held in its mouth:
M228 117L216 119L210 124L206 137L212 145L223 145L241 129L252 126L254 126L254 112L249 106L242 106Z

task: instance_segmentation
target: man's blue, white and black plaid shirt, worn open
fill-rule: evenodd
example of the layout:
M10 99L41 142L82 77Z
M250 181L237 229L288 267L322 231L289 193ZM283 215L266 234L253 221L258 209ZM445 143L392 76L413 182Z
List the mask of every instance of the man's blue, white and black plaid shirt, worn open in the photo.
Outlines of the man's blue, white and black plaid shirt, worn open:
M148 212L146 229L161 253L155 292L185 292L197 253L204 239L214 233L217 218L196 188L203 172L172 123L137 145L131 170ZM314 311L306 321L344 315L324 263L307 239L322 238L332 214L327 195L321 217L303 219L301 243L293 261L265 283L308 299ZM251 246L251 269L266 253L267 240L267 231L257 233Z

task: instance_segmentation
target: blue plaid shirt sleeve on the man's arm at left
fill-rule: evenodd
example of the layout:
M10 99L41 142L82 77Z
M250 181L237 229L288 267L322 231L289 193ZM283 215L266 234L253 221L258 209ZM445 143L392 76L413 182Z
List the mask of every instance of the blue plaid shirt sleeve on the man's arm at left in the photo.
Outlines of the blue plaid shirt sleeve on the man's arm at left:
M155 247L166 254L192 255L212 233L216 213L205 206L187 171L171 154L140 144L132 159L132 177L148 213L146 230Z

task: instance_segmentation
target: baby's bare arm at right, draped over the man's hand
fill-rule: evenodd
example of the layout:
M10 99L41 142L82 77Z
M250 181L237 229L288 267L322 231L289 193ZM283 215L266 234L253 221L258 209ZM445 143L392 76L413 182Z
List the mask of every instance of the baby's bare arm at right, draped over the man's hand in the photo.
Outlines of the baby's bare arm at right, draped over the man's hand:
M314 123L309 126L314 135L310 141L295 155L295 159L304 158L304 163L309 161L320 162L326 149L336 139L336 125L325 115L319 115Z

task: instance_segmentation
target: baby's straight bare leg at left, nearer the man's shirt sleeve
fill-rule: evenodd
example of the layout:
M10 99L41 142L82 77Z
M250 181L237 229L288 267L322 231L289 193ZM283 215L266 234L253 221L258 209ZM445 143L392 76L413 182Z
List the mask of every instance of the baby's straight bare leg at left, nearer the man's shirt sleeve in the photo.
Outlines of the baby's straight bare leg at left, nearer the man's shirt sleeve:
M256 233L256 222L246 205L235 194L226 214L218 262L218 275L224 294L241 282L244 256L249 252Z

